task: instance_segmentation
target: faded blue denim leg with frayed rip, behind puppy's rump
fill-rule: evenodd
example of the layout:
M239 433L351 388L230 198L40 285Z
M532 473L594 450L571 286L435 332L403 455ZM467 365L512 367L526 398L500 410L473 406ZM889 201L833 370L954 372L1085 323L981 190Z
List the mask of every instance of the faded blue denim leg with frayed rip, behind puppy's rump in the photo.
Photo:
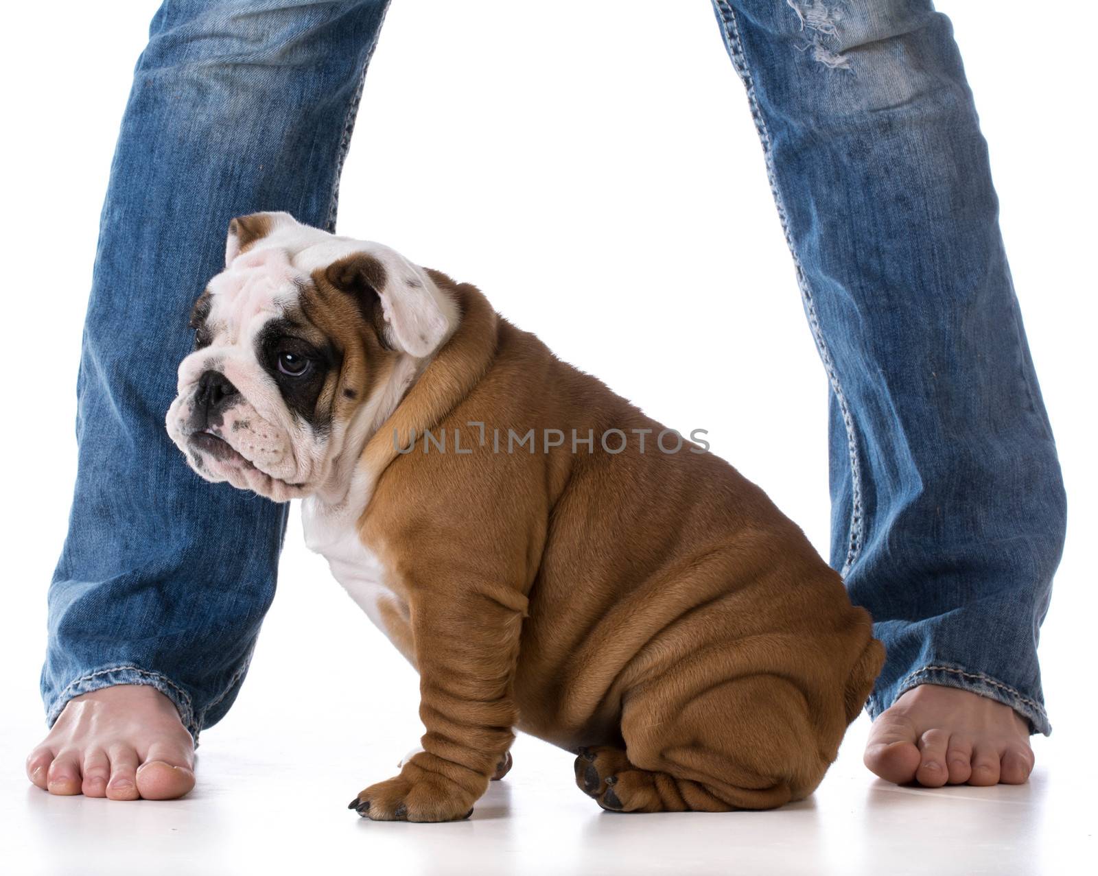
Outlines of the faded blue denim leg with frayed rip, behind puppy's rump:
M888 658L1049 719L1052 431L949 20L929 0L714 0L831 386L831 562Z

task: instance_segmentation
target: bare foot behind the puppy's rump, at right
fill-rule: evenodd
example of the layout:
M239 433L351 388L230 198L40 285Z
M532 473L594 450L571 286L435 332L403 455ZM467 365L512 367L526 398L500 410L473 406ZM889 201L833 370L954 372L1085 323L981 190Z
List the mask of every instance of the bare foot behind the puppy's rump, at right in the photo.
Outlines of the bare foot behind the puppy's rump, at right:
M1033 770L1029 723L1009 706L955 687L922 684L878 717L865 765L897 785L1021 785Z

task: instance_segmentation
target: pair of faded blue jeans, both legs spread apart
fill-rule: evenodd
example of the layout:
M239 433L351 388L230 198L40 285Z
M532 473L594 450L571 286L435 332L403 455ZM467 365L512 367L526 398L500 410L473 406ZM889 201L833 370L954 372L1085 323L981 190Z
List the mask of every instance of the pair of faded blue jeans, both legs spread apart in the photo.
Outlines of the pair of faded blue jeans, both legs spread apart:
M181 327L232 216L334 226L386 4L166 0L153 21L85 330L51 722L148 684L197 738L236 696L285 508L200 481L168 439ZM929 0L714 7L830 380L831 562L888 651L869 710L932 683L1047 733L1037 643L1064 491L950 23Z

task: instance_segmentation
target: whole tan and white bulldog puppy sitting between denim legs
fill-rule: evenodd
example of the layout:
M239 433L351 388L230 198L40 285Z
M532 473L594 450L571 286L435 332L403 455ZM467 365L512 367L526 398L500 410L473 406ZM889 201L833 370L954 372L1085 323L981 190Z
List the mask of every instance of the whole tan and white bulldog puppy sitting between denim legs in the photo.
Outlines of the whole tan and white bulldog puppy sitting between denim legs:
M310 548L419 672L423 750L360 815L466 818L513 728L616 811L819 784L884 649L727 462L671 452L473 287L285 213L233 221L192 327L171 438L209 481L302 498Z

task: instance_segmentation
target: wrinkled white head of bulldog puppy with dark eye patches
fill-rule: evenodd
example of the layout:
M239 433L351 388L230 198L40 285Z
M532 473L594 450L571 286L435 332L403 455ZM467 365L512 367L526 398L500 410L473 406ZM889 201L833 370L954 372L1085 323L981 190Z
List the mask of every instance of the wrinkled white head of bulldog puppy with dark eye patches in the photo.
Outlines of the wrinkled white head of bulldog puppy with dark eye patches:
M288 213L229 224L191 314L168 434L191 468L277 502L328 485L456 324L424 269ZM354 464L354 460L351 460Z

